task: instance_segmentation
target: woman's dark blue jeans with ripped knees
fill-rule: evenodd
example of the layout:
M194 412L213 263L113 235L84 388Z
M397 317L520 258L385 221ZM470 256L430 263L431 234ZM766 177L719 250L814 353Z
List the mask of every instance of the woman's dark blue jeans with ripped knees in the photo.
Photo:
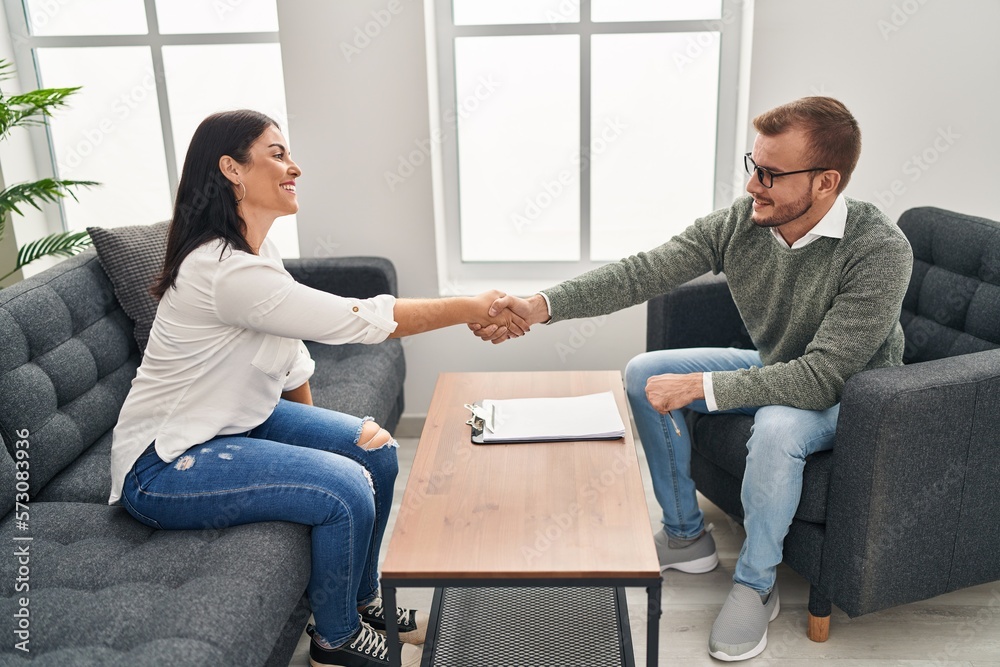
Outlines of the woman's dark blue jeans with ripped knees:
M357 630L358 606L378 594L379 545L399 470L394 440L358 446L363 424L282 399L260 426L171 463L151 447L126 475L122 504L154 528L312 526L309 601L317 632L337 646Z

